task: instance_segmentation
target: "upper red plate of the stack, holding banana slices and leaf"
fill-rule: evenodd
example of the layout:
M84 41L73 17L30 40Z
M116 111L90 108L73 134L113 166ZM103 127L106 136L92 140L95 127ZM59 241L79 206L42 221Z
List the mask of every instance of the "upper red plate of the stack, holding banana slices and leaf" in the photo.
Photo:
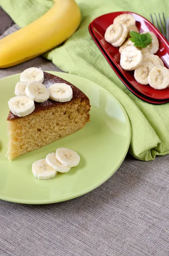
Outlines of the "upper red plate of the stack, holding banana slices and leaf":
M125 71L120 67L120 53L118 50L119 48L113 47L111 44L107 43L104 40L106 28L113 23L115 17L125 13L132 14L135 17L136 26L141 33L144 31L152 31L155 33L159 41L159 50L156 55L158 55L163 60L165 66L169 68L169 43L166 41L163 35L161 35L158 29L156 29L155 26L153 26L152 23L149 22L149 20L146 20L144 17L134 12L112 12L97 17L91 23L94 35L96 36L97 40L99 41L100 45L103 47L107 55L116 65L116 67L129 81L129 83L132 84L133 87L135 87L135 89L137 89L140 93L143 93L144 95L153 99L169 99L169 88L163 90L155 90L149 85L142 85L137 83L134 78L134 71Z

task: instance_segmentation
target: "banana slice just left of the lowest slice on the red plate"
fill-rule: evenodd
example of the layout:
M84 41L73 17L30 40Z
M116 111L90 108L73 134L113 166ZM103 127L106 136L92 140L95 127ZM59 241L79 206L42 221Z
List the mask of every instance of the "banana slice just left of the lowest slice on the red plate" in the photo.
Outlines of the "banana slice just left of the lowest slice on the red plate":
M149 84L148 76L153 67L154 65L151 62L141 64L139 67L135 69L135 80L140 84Z

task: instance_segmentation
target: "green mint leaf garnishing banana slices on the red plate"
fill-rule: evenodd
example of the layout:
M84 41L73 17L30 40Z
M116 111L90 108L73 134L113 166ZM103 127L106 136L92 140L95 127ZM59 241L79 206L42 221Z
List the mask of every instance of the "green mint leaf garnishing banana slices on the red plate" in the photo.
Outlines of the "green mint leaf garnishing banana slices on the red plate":
M129 40L132 41L136 47L145 48L152 42L152 36L149 33L141 35L135 31L130 31L130 36L131 38L129 38Z

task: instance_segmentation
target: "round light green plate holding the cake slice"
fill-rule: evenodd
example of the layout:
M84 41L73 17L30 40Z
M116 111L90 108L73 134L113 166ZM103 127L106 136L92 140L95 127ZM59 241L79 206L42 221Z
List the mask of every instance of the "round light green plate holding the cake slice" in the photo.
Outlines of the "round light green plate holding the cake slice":
M20 74L0 79L0 199L23 204L49 204L76 198L95 189L111 177L123 162L130 143L126 111L107 90L87 79L50 72L76 85L90 99L91 121L76 133L44 148L9 161L6 118L8 100L14 96ZM80 155L80 164L51 180L38 180L32 163L56 148L70 148ZM113 188L112 188L113 189Z

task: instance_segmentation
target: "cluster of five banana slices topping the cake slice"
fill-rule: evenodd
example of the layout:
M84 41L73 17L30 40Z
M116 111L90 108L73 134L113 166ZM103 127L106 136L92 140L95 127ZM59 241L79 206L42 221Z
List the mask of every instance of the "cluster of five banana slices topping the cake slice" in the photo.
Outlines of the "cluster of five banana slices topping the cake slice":
M37 67L30 67L24 70L20 75L20 80L21 81L15 86L15 95L26 96L26 98L16 99L16 97L14 97L14 99L12 98L9 101L9 108L11 113L13 113L15 116L27 116L34 111L34 103L31 103L29 106L26 105L28 103L27 98L38 103L43 103L47 102L49 99L49 94L50 99L55 102L68 102L73 97L73 90L69 84L53 82L53 84L50 84L49 88L46 86L46 84L42 84L44 81L44 74L43 71ZM50 82L52 83L52 81ZM27 103L25 103L25 100ZM51 105L51 102L47 102L47 105ZM23 113L20 111L21 106Z

